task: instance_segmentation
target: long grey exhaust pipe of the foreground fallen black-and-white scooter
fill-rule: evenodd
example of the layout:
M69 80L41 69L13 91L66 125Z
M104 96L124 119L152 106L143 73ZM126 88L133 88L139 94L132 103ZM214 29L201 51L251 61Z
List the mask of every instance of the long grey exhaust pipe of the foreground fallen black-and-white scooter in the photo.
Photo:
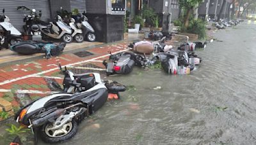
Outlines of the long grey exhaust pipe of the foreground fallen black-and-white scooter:
M50 119L58 118L64 111L65 109L57 109L56 111L53 111L52 113L47 114L42 118L36 118L35 120L32 120L31 124L33 127L40 127L41 125L47 123Z

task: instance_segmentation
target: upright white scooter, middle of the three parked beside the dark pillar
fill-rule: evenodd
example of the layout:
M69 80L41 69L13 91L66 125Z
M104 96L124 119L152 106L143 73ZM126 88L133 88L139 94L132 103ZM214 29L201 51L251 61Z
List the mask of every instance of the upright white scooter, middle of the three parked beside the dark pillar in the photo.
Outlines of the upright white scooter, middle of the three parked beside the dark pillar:
M76 40L77 43L81 43L84 41L84 35L83 31L81 29L82 25L80 23L76 24L76 20L74 18L71 18L69 26L74 31L72 33L72 37Z

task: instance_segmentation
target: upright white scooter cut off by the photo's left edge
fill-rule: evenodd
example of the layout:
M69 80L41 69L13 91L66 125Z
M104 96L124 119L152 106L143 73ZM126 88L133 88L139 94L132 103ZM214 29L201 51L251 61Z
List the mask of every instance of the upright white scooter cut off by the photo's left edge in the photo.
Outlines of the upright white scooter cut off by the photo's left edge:
M3 28L2 42L5 41L10 45L20 42L21 33L10 24L10 18L4 15L4 9L3 16L0 15L0 25Z

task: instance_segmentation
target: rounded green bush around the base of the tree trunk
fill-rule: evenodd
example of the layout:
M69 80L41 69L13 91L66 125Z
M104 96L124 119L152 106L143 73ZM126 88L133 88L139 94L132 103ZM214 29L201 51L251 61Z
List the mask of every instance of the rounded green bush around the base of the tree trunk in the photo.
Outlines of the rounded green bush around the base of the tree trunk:
M188 28L186 29L186 32L198 34L199 38L205 38L206 37L206 22L200 18L197 20L191 20L189 22Z

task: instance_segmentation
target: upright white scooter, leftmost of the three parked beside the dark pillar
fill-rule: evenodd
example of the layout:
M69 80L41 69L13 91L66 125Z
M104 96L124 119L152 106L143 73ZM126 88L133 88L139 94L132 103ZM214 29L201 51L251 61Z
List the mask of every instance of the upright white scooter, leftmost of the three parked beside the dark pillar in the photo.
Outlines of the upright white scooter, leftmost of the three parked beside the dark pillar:
M42 34L54 39L62 39L65 43L72 42L72 29L65 24L62 18L58 15L58 21L56 23L50 22L51 28L48 25L40 24L40 31Z

